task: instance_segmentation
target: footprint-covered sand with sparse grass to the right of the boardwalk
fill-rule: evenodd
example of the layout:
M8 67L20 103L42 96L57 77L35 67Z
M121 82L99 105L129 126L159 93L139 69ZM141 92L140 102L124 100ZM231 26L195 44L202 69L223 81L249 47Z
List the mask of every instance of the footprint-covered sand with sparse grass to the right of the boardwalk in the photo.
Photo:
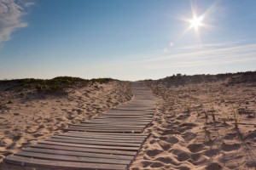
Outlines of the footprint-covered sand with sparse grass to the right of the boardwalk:
M146 82L160 102L130 169L255 170L255 75Z

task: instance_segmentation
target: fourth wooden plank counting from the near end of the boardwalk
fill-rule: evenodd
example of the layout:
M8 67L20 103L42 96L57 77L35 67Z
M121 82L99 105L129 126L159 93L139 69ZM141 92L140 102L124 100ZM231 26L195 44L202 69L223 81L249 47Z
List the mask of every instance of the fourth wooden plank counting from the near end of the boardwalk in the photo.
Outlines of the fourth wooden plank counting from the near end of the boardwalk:
M121 155L121 156L134 156L136 151L125 151L125 150L103 150L94 148L81 148L76 146L61 146L54 144L34 144L30 146L31 148L48 149L48 150L70 150L78 152L88 152L88 153L99 153L99 154L109 154L109 155Z

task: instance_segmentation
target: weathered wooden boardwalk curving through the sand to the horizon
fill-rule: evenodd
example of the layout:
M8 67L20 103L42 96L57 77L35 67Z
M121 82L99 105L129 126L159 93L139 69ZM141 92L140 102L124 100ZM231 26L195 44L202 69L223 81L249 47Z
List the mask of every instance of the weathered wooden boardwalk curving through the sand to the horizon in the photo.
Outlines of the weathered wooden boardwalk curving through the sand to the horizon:
M127 169L137 156L152 121L156 98L139 82L134 98L102 116L67 127L53 136L3 158L20 166L60 169Z

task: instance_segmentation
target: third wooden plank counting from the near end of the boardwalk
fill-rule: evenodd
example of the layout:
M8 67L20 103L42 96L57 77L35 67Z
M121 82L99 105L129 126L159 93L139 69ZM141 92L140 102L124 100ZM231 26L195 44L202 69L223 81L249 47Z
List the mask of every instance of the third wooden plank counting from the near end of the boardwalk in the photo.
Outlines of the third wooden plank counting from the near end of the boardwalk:
M90 152L78 152L78 151L67 151L67 150L47 150L39 148L25 148L24 151L44 153L51 155L61 155L61 156L83 156L83 157L95 157L95 158L106 158L114 160L131 160L133 156L121 156L121 155L112 155L112 154L98 154Z

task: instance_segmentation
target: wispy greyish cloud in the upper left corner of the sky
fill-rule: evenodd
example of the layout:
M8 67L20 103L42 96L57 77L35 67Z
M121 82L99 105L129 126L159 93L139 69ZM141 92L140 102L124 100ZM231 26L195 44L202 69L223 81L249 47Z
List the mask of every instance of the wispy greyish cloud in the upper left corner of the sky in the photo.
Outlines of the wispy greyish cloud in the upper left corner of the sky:
M12 32L28 26L21 17L26 14L25 8L32 5L32 2L0 0L0 44L9 41Z

